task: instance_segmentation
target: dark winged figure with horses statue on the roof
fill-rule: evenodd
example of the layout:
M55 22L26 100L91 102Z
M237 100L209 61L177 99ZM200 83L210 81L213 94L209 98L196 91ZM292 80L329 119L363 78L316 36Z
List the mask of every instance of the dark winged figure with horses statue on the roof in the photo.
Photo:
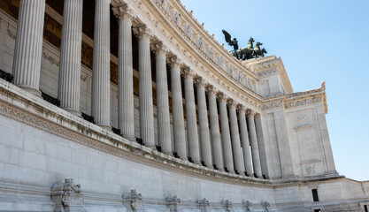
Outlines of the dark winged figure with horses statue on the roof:
M258 58L258 57L264 57L264 55L267 53L265 48L260 49L260 46L263 45L262 42L257 42L254 48L254 42L255 40L250 37L248 44L245 47L238 48L238 41L236 38L232 40L231 34L228 34L226 30L222 30L226 42L229 46L233 46L234 50L233 52L234 57L237 59L247 60L250 58Z

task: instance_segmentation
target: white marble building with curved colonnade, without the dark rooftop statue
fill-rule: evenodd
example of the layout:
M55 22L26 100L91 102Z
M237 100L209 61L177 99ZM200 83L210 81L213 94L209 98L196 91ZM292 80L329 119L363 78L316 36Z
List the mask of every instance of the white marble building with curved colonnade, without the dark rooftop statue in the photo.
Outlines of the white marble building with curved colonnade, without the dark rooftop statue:
M179 0L0 2L0 211L367 211L325 82L241 61Z

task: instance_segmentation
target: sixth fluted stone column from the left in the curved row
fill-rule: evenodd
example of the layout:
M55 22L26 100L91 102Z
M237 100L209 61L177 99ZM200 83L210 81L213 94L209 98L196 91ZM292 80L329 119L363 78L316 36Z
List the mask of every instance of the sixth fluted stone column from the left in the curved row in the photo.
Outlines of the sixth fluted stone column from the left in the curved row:
M167 49L162 42L156 43L158 141L165 154L172 155L171 123L169 117L168 82L166 77Z

